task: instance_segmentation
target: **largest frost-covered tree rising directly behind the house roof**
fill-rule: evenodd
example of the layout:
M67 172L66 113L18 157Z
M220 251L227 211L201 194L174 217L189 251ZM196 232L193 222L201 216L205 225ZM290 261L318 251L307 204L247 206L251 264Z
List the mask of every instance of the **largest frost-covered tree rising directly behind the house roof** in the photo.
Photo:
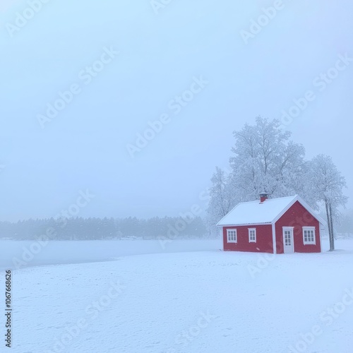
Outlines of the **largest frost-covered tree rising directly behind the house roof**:
M265 191L272 197L288 196L304 189L305 150L282 131L280 121L259 116L255 125L234 131L234 156L230 158L232 182L242 201Z

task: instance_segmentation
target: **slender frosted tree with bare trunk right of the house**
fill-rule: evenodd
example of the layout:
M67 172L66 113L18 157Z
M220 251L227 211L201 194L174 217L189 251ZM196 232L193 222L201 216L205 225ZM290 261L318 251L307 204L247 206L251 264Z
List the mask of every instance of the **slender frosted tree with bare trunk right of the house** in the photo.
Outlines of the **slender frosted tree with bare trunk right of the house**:
M343 188L346 187L345 177L342 177L328 155L318 155L311 160L309 175L309 185L313 196L316 201L325 205L330 251L333 251L335 250L333 225L340 217L340 206L347 203L347 197L343 195Z

